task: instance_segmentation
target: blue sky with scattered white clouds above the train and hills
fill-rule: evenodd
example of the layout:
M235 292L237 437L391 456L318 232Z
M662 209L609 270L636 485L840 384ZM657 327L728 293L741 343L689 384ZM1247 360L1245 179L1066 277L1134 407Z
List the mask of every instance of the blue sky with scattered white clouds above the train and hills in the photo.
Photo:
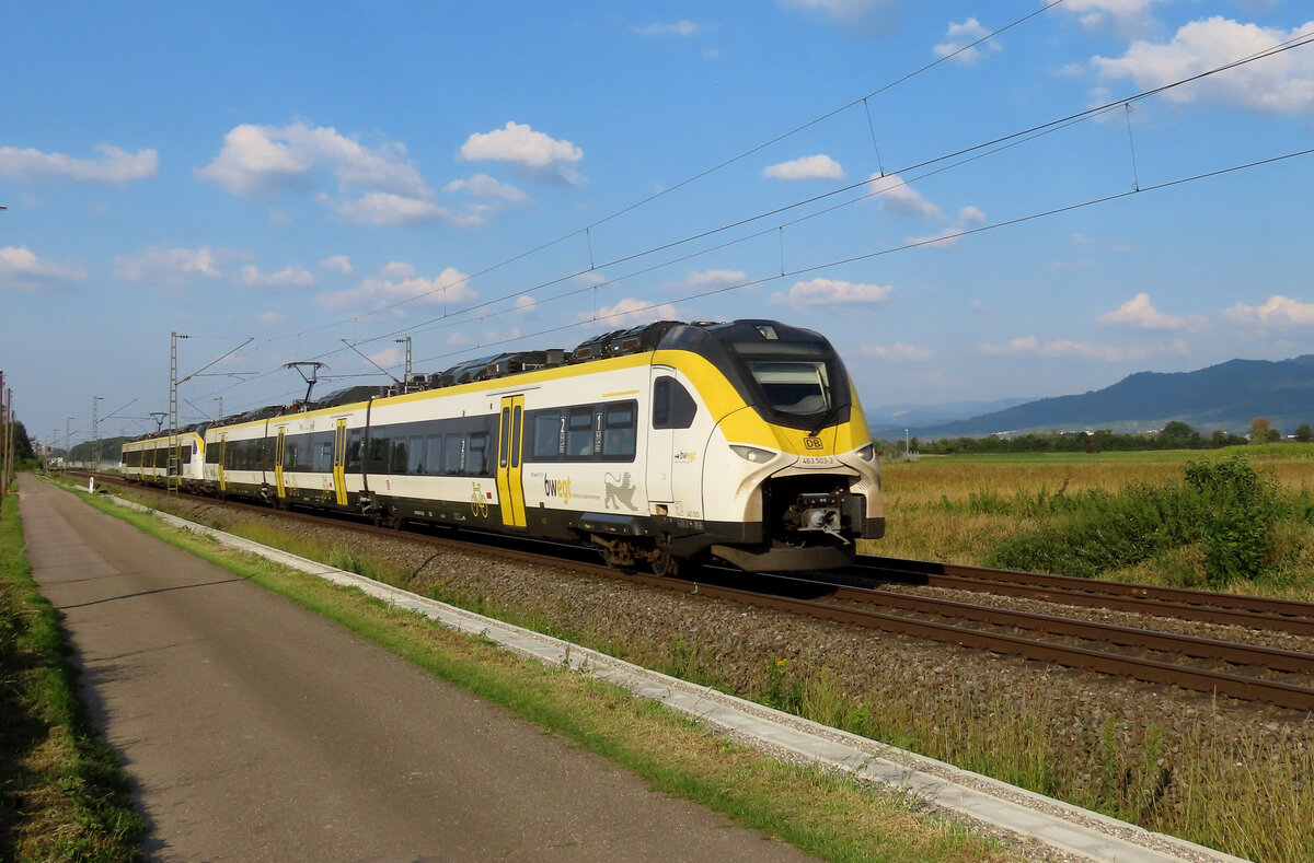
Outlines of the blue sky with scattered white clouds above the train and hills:
M152 430L171 332L184 421L658 319L816 329L869 408L1314 351L1314 9L1045 5L9 4L18 418Z

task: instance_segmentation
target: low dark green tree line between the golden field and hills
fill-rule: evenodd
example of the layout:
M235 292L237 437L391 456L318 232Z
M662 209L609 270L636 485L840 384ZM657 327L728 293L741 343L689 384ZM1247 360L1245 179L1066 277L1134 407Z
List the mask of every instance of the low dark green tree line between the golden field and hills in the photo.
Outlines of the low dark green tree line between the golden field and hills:
M1314 442L1314 429L1302 424L1292 435L1301 443ZM1049 432L1012 437L992 434L986 438L940 438L918 441L912 438L908 447L928 455L955 455L962 452L1120 452L1134 450L1215 450L1247 443L1276 443L1281 432L1268 417L1256 417L1250 424L1250 434L1215 430L1205 435L1185 422L1172 420L1159 432L1116 434L1108 429L1097 432ZM904 441L878 441L878 449L896 454L904 450Z

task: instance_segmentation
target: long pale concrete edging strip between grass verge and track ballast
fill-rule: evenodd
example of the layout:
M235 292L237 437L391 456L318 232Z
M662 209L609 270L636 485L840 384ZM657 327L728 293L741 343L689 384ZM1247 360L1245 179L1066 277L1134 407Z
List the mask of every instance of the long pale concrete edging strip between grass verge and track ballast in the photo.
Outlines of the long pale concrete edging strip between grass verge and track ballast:
M484 636L520 656L549 665L569 665L639 696L702 719L769 752L850 773L862 779L916 792L942 809L983 821L1024 838L1043 842L1093 860L1244 863L1213 849L1152 833L1134 824L1081 809L1024 788L1005 784L934 758L926 758L848 732L792 716L761 704L652 672L589 648L562 641L436 599L392 588L342 569L326 567L277 548L213 527L152 510L110 496L118 505L154 513L166 523L212 536L221 544L248 551L334 584L406 609L438 623Z

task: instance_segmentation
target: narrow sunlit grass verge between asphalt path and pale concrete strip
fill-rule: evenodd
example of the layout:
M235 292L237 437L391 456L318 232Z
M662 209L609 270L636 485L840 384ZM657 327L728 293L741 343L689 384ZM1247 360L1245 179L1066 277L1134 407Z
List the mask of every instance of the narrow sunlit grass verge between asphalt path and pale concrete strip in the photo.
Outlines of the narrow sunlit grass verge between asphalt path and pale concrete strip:
M646 779L827 860L1005 860L999 842L924 812L912 796L876 792L848 776L782 763L714 734L627 690L516 658L311 576L221 547L124 510L93 505L382 645L435 677L562 734ZM301 550L304 553L305 550ZM323 555L307 555L319 556ZM357 561L359 563L359 561Z

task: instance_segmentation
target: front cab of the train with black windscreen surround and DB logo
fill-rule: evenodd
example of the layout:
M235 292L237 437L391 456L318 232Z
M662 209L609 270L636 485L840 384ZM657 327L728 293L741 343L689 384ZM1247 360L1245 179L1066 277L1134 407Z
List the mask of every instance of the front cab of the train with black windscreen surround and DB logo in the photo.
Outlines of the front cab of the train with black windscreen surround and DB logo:
M671 515L700 522L675 538L678 556L710 552L745 571L827 569L851 563L855 539L883 535L875 451L825 338L749 320L681 328L662 348L670 353L657 351L654 370L675 367L708 414L671 435ZM662 451L649 456L656 501L666 445L652 434Z

